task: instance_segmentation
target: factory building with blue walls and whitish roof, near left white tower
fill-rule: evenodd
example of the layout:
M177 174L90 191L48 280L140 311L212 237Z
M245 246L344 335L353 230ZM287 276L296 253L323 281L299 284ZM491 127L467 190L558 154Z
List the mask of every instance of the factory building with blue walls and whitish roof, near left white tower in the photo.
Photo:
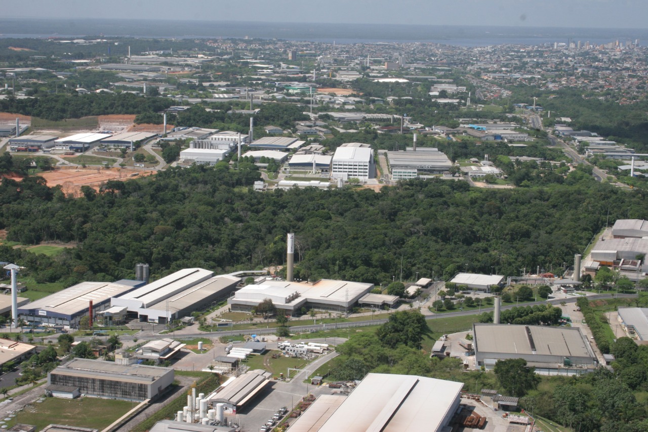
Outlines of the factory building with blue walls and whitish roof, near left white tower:
M117 282L82 282L63 291L40 298L18 308L18 318L35 326L78 328L79 320L110 307L110 298L143 285L144 282L122 279Z

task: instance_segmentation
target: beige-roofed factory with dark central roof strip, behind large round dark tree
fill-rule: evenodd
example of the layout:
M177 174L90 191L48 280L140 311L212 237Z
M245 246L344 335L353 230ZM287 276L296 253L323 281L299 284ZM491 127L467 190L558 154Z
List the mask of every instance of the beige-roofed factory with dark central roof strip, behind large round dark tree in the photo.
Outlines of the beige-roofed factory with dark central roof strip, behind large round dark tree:
M598 365L587 337L577 327L472 325L476 365L492 370L498 360L524 359L541 375L578 375Z

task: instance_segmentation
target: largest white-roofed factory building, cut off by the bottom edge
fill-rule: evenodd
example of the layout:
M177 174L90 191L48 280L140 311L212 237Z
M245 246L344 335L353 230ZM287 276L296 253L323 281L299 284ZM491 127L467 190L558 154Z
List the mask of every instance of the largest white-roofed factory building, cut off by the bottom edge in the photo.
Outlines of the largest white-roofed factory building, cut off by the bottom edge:
M288 431L449 431L461 387L445 379L367 374L349 396L319 396Z

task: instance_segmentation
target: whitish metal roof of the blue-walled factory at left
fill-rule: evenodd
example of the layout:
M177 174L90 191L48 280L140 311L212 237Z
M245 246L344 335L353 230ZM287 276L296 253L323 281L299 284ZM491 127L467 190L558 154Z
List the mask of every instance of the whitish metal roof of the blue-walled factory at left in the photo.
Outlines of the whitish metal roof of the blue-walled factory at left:
M51 294L31 302L18 309L19 313L29 315L42 315L38 310L72 317L84 313L89 308L89 301L93 300L95 306L110 300L133 289L133 285L117 282L82 282L77 283L63 291Z

